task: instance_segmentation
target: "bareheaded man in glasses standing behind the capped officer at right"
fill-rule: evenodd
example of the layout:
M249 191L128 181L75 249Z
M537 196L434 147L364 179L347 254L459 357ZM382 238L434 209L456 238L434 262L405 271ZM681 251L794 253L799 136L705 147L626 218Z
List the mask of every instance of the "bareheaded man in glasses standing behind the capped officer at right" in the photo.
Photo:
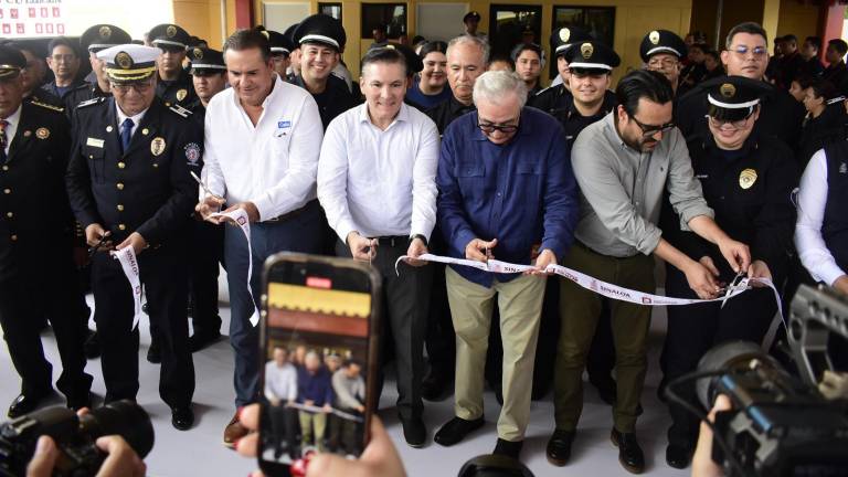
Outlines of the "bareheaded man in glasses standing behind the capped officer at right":
M768 64L768 40L762 26L753 22L733 26L728 33L725 46L727 50L721 52L721 62L727 66L729 76L764 81ZM687 139L709 134L707 121L703 120L708 108L707 92L699 87L677 102L675 120ZM764 136L780 137L793 149L797 148L804 106L786 91L774 89L763 98L760 109L760 120L754 125L757 131Z

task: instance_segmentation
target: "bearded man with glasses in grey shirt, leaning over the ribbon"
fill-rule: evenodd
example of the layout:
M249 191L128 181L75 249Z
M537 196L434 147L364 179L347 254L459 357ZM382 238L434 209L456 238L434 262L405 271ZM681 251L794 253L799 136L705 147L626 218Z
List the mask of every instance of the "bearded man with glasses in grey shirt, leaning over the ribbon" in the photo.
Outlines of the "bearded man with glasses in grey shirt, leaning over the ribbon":
M748 246L731 240L712 220L712 210L692 174L680 131L671 123L674 91L657 72L634 71L618 83L619 105L586 127L572 149L580 184L582 218L563 265L597 279L654 293L657 255L686 274L701 298L713 298L718 279L661 236L657 227L662 191L698 235L719 246L734 271L748 271ZM583 409L582 374L603 301L612 317L616 353L617 396L611 438L622 466L639 474L645 457L636 439L637 407L647 371L650 307L603 298L571 280L561 280L562 330L556 352L554 412L556 428L548 458L565 465L571 457ZM551 451L555 452L551 452Z

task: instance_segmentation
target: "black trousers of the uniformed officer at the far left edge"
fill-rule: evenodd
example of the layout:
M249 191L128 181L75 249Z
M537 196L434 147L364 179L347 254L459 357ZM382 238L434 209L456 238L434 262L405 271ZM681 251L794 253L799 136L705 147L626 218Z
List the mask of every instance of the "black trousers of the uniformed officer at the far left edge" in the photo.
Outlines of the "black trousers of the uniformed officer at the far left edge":
M50 250L17 252L32 256ZM12 364L21 377L21 393L36 396L53 389L53 367L44 358L41 325L46 315L53 327L62 361L62 374L56 388L68 401L84 401L92 386L85 373L83 342L85 331L80 326L86 309L81 307L76 268L66 256L15 266L14 273L3 273L0 280L0 326ZM9 271L4 271L9 272ZM40 305L39 305L40 304Z

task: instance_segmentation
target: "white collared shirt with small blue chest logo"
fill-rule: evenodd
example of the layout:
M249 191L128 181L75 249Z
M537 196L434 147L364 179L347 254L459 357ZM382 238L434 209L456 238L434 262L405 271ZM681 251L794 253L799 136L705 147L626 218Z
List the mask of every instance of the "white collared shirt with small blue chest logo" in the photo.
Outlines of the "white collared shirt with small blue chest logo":
M234 88L209 102L202 177L229 204L253 202L265 221L315 199L324 127L312 96L276 75L262 107L254 126Z

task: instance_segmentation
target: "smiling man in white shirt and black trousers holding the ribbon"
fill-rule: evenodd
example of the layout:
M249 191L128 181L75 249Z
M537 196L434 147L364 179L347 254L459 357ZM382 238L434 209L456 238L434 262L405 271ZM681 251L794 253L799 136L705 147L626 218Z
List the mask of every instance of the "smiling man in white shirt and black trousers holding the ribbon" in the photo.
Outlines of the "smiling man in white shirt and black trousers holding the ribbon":
M426 438L421 380L431 276L420 261L401 265L400 275L394 263L402 255L427 253L436 221L438 131L423 113L403 104L406 70L395 49L375 49L362 59L365 104L327 128L318 199L340 239L337 254L373 261L383 276L384 336L394 343L398 412L406 442L420 447Z

